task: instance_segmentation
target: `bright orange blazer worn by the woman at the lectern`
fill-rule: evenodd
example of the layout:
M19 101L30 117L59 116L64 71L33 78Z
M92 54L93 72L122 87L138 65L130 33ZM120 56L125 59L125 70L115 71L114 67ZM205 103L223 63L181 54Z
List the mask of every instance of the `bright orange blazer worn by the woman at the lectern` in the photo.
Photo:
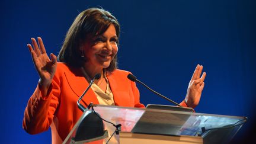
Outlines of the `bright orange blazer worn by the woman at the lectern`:
M140 104L139 90L135 82L127 79L129 72L116 69L107 72L115 105L123 107L145 107ZM62 143L76 121L81 117L76 101L88 87L81 69L57 63L57 70L46 96L41 95L39 85L28 100L24 111L23 128L30 134L41 133L51 127L52 143ZM99 104L90 88L81 104ZM181 103L185 106L185 103Z

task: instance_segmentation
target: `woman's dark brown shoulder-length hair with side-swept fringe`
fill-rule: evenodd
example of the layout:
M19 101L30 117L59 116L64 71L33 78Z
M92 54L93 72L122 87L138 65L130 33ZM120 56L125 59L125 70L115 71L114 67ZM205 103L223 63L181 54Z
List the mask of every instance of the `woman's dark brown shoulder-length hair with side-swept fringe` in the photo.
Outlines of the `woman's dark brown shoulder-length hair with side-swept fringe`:
M60 49L59 62L68 63L73 67L81 67L86 57L81 57L81 41L85 41L88 34L97 36L103 34L113 24L116 28L116 35L119 38L120 25L117 19L108 11L100 8L89 8L82 11L73 21L69 28L62 48ZM117 40L117 44L119 41ZM107 71L114 71L117 68L117 55L110 62Z

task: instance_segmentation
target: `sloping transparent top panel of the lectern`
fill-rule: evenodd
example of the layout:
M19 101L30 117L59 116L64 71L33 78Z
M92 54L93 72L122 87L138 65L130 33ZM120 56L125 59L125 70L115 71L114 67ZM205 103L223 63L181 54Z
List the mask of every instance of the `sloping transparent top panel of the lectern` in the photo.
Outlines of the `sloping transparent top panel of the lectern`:
M202 127L222 129L245 120L245 117L105 105L95 105L94 110L103 119L122 124L121 131L163 135L196 136L202 133ZM235 132L239 130L236 128Z

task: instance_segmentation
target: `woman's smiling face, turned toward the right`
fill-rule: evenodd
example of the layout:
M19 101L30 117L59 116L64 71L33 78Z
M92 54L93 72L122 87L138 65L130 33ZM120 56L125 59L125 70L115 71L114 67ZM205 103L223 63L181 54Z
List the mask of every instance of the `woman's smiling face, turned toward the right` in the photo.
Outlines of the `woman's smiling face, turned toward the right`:
M110 24L101 35L88 36L80 48L87 59L85 67L94 69L108 68L118 51L117 39L116 28L113 24Z

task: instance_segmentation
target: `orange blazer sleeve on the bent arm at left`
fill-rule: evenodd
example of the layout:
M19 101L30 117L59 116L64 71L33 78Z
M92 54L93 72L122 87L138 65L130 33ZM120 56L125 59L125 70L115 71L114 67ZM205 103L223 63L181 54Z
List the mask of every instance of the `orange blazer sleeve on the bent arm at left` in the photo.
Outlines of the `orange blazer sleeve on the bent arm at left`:
M49 129L56 108L59 105L60 81L54 76L47 95L41 95L39 84L28 100L24 111L23 129L30 134L37 134Z

